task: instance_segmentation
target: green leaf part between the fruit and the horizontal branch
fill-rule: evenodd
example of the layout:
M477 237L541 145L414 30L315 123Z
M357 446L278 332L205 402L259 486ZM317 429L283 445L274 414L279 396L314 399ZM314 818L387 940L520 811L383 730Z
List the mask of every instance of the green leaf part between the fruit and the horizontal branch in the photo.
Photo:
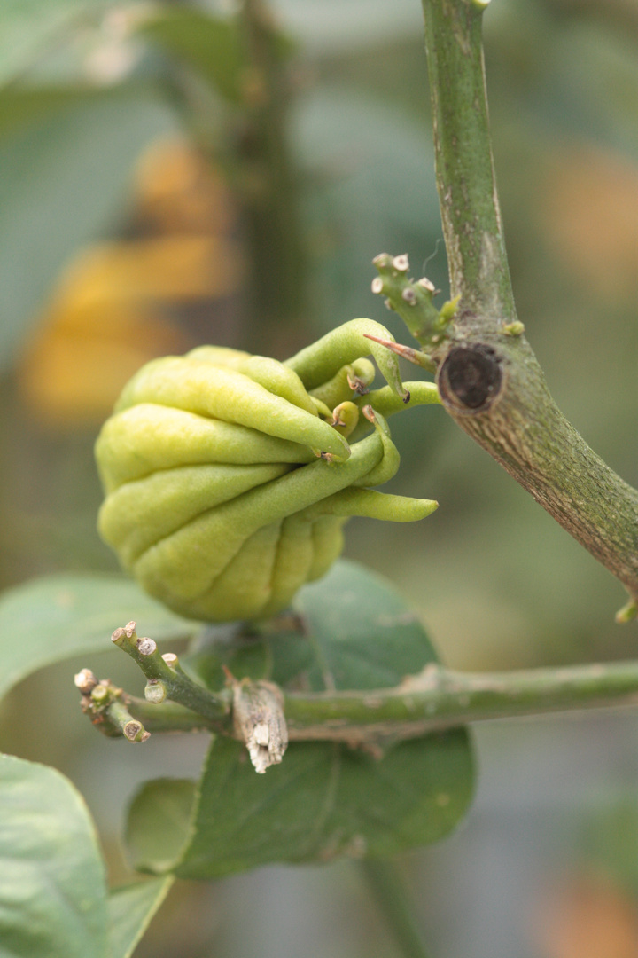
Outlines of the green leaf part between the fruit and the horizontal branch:
M364 606L364 614L362 608ZM303 688L380 689L420 672L436 655L424 627L395 589L355 562L341 560L297 594L290 627L206 627L183 664L216 690L224 667L237 678L269 678ZM301 625L302 631L299 632Z

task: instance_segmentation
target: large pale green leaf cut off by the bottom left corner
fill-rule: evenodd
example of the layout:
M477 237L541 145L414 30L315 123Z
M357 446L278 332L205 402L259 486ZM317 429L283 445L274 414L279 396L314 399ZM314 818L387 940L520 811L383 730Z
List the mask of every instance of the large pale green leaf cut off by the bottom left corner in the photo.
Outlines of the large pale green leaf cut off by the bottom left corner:
M0 953L106 958L104 864L76 788L46 765L0 756Z

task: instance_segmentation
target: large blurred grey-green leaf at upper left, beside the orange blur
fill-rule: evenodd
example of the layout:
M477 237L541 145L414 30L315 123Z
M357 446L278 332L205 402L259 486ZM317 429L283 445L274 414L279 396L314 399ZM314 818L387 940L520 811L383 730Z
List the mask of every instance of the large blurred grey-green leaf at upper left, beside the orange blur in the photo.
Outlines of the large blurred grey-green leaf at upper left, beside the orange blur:
M0 367L39 321L67 259L120 212L142 149L173 128L148 96L96 96L0 143Z

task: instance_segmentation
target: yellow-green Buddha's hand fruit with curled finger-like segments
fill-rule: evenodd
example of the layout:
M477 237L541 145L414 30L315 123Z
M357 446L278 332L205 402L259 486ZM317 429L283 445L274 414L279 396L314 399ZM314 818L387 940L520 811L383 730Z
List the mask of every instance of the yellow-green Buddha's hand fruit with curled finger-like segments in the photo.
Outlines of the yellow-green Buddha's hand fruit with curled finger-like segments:
M410 383L410 399L365 333L391 339L353 320L285 363L205 346L133 376L96 445L99 532L147 592L209 622L269 616L338 558L350 516L436 508L368 488L399 466L384 414L437 396ZM364 354L389 383L369 395Z

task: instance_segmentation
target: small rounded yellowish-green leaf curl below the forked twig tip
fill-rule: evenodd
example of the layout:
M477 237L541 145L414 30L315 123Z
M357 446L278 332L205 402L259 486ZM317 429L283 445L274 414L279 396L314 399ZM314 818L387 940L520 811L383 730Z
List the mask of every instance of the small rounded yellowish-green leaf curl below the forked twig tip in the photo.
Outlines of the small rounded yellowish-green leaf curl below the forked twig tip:
M126 840L141 872L170 871L188 837L195 783L188 779L145 782L128 810Z

